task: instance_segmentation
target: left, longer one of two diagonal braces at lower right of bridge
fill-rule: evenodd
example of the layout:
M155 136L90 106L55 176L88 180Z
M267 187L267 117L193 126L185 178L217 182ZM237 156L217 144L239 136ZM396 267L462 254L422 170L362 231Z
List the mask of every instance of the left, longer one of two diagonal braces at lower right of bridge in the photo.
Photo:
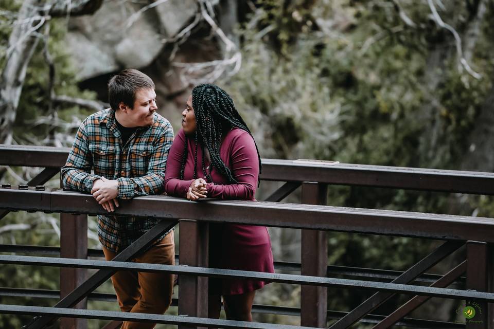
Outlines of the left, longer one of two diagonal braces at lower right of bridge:
M452 252L464 245L462 241L448 241L440 245L437 249L432 251L424 259L420 260L418 263L410 267L407 271L403 272L398 278L393 280L391 283L407 284L424 273L427 269L436 265ZM374 309L379 307L386 300L393 297L393 293L376 293L369 297L366 301L361 303L359 306L354 308L350 313L345 315L343 318L333 323L329 328L331 329L344 329L348 328L350 325L362 319L365 315L372 312Z

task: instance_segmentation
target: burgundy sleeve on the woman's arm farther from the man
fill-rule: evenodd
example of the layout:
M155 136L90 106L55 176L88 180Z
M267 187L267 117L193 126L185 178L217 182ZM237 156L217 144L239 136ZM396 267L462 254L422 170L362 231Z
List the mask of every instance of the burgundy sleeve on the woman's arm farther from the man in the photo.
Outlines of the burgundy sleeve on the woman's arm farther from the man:
M244 131L240 132L233 136L232 151L230 154L232 174L238 183L227 185L209 183L207 184L208 197L223 200L254 199L257 179L259 177L259 158L252 136Z

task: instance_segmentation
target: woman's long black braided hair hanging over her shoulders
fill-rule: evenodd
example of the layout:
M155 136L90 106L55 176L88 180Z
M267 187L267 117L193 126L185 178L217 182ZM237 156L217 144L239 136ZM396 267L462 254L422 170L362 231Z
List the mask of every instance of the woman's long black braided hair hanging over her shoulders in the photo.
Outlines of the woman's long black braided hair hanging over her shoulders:
M232 128L237 127L251 136L251 131L237 112L233 100L223 89L214 84L200 84L192 89L192 107L196 115L196 133L194 139L196 152L194 154L194 179L197 178L197 151L198 139L202 142L202 171L206 175L206 181L212 182L210 170L207 172L204 165L204 145L209 152L211 165L228 179L228 184L235 184L238 181L233 177L230 168L226 167L220 157L220 147L222 138ZM185 135L185 147L180 170L181 179L184 179L185 161L187 159L187 139ZM254 138L254 137L252 137ZM261 157L256 145L257 156L259 158L259 173L261 172Z

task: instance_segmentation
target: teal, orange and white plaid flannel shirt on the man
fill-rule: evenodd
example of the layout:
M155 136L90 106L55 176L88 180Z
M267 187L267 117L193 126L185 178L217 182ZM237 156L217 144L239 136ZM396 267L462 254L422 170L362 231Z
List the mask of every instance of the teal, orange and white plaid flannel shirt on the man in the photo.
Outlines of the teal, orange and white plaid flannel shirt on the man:
M127 143L122 145L115 112L104 109L81 123L62 168L63 185L91 192L93 182L104 176L118 181L117 197L121 199L162 193L166 159L172 141L170 122L154 113L153 125L137 128ZM159 221L155 218L98 215L99 241L105 248L119 252Z

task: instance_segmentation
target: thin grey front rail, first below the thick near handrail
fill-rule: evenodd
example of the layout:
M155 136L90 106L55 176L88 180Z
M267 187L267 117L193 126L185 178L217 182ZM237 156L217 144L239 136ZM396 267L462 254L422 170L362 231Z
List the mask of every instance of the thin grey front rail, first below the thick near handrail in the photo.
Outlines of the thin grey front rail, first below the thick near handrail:
M299 276L291 274L264 273L253 271L240 271L218 268L204 268L183 265L158 265L147 263L124 263L114 261L84 260L70 258L52 257L30 257L0 255L0 264L34 265L51 267L77 267L106 270L127 270L142 272L166 272L179 275L192 275L213 278L236 278L259 281L270 281L288 284L304 284L312 286L357 288L367 290L386 291L390 293L442 297L451 299L477 300L484 302L494 302L494 293L484 293L481 291L467 291L458 289L436 288L428 286L416 286L396 283L385 283L363 280L349 280L337 278L323 278L311 276Z

